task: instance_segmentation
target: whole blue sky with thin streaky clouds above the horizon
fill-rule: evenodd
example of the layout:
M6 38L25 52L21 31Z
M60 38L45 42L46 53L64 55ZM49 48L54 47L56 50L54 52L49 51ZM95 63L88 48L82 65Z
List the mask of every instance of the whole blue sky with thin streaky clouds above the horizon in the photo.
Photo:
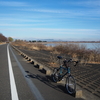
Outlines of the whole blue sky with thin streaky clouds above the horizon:
M100 40L100 0L0 0L0 33L19 39Z

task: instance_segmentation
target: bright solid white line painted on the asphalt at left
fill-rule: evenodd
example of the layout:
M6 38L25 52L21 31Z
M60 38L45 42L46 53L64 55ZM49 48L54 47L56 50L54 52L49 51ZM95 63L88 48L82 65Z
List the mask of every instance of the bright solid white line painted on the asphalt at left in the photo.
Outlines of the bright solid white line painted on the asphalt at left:
M18 93L16 89L10 54L9 54L9 45L7 45L7 53L8 53L8 66L9 66L9 77L10 77L10 87L11 87L11 100L19 100Z

